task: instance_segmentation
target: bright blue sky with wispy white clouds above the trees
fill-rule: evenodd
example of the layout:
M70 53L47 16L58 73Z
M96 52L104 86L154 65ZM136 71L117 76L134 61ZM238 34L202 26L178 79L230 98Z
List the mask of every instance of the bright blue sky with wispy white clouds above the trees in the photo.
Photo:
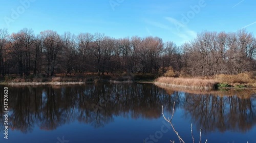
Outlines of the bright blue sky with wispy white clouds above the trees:
M0 28L160 37L177 45L202 31L256 33L254 0L1 0Z

